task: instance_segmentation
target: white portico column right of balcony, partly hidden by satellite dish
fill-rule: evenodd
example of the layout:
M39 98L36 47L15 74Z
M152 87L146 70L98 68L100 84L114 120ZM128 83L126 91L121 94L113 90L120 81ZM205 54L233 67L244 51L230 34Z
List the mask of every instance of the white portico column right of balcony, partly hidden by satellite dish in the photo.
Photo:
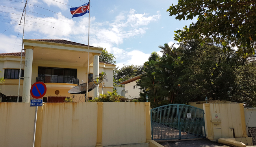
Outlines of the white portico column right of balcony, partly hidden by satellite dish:
M93 53L93 78L100 75L100 53ZM93 89L93 96L98 97L99 86Z

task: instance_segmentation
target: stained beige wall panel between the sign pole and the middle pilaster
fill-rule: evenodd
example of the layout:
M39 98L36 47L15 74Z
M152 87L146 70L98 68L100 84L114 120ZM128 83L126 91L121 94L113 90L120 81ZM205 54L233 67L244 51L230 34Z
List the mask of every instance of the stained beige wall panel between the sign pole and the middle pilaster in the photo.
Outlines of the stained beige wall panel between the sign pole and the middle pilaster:
M45 103L42 147L95 147L97 103Z

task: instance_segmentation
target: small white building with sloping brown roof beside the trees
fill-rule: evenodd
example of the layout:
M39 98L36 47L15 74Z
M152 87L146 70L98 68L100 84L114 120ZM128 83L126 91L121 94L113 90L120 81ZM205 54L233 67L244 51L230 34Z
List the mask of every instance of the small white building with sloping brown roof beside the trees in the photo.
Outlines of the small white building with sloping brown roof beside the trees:
M124 85L125 98L134 99L139 97L139 93L142 92L142 90L140 90L139 89L140 87L136 85L136 81L139 80L140 78L141 78L140 75L138 75L124 82L119 83Z

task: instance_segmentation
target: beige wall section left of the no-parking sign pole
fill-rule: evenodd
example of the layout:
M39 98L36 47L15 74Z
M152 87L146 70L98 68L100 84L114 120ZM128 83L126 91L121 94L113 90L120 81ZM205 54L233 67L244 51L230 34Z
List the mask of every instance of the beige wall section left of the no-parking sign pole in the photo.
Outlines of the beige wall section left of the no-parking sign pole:
M0 103L0 147L32 147L35 107Z

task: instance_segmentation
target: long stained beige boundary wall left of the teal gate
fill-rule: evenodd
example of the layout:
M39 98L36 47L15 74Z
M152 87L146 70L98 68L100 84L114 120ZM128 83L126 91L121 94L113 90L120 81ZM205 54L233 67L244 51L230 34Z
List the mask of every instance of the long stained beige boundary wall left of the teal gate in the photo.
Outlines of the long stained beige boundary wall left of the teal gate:
M0 147L32 146L34 117L30 103L0 103ZM44 103L35 147L144 147L150 128L149 102Z

